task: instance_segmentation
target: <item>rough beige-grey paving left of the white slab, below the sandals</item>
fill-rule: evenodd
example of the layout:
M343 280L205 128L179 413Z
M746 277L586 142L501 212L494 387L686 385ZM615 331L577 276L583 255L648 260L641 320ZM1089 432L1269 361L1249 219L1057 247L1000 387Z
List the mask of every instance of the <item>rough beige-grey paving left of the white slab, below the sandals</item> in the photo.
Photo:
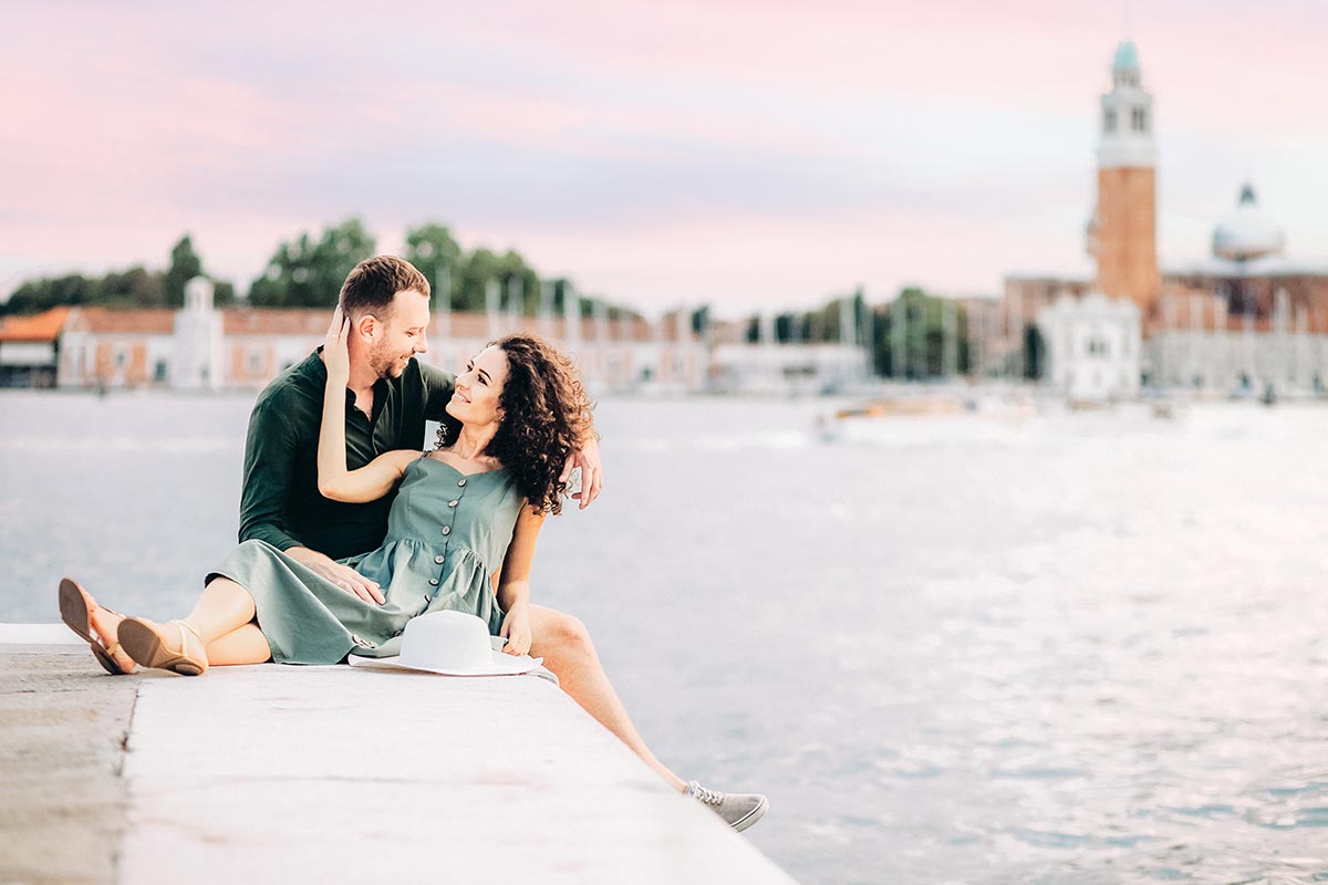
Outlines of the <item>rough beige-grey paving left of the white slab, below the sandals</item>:
M69 645L64 634L7 634L0 625L4 884L116 880L127 799L124 743L138 679L106 674L86 645Z

